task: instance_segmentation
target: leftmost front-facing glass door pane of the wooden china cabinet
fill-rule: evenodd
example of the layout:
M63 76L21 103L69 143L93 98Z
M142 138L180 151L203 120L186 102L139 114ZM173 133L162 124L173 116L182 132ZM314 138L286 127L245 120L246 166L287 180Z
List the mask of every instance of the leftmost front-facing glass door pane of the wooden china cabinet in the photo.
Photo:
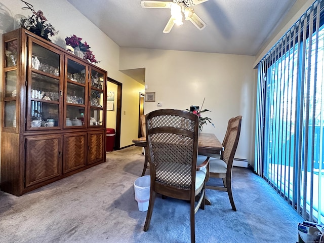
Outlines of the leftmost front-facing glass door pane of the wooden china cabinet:
M29 39L30 46L27 130L60 129L62 57L31 39Z

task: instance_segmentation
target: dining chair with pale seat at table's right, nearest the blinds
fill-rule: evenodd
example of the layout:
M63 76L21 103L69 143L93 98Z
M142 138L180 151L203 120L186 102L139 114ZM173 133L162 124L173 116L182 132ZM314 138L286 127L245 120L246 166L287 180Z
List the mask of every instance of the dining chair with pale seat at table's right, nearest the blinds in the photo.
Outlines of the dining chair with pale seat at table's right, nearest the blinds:
M223 179L223 186L211 185L211 182L206 185L208 189L227 191L234 211L236 211L236 207L232 193L232 169L241 130L241 121L241 115L229 119L223 141L224 151L221 152L220 158L211 157L210 159L209 177ZM213 156L212 154L208 155Z

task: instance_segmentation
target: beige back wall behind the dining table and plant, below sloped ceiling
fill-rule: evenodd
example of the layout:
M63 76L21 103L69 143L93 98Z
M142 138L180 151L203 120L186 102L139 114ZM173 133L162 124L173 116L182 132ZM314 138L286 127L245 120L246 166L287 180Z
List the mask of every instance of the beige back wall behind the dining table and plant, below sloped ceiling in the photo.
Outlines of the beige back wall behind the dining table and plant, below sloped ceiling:
M120 48L120 69L145 67L146 92L155 92L156 102L146 102L144 113L159 108L186 109L201 106L213 119L203 132L222 141L228 119L243 115L237 157L253 161L256 70L255 57L183 51ZM157 102L163 106L157 107Z

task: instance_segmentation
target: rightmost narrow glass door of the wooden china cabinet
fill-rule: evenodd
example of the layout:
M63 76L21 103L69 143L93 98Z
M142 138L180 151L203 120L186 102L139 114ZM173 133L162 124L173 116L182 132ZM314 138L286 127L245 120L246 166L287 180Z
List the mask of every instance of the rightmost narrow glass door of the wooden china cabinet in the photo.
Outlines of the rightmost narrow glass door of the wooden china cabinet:
M105 74L91 69L89 126L102 126L104 109Z

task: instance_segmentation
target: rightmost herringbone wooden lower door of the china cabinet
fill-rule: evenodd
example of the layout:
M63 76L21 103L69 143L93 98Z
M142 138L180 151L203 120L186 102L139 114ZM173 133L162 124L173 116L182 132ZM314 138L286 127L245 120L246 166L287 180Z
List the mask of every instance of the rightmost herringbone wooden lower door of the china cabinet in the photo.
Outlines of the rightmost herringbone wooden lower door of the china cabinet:
M104 132L92 132L88 134L88 165L96 163L103 159L104 149Z

